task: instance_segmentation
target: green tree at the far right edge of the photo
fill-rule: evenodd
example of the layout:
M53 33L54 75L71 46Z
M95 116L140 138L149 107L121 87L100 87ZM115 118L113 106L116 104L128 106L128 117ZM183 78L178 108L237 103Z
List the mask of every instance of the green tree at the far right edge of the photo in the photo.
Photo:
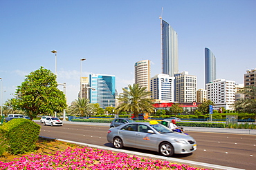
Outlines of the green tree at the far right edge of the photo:
M246 86L239 93L246 97L235 102L235 110L239 113L255 114L256 117L256 87Z

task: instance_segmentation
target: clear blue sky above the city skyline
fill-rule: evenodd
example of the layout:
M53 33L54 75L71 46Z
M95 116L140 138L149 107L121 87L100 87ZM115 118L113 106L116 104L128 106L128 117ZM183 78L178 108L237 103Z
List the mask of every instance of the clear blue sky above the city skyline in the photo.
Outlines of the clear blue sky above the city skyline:
M55 73L52 50L68 105L80 74L114 75L118 93L134 83L138 61L151 61L151 77L161 74L161 14L178 34L179 72L197 76L198 89L205 47L216 56L217 78L244 83L256 68L255 9L255 0L0 0L1 103L30 72Z

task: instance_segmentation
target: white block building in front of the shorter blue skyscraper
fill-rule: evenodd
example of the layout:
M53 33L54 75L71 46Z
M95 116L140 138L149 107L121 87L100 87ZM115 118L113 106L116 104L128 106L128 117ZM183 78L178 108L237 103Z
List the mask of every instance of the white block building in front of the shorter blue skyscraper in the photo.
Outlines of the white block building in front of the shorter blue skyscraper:
M224 79L214 80L206 84L207 98L214 103L213 109L219 110L224 107L227 110L233 110L235 103L235 81L226 81Z

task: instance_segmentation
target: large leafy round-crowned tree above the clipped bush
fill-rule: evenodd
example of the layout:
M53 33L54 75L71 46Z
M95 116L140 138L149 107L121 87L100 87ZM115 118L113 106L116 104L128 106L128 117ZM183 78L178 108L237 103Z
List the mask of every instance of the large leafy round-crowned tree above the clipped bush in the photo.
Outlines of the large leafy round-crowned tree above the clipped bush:
M50 70L40 67L25 77L17 86L15 98L10 99L14 109L26 111L32 120L39 114L53 114L66 108L65 95L57 88L56 75Z

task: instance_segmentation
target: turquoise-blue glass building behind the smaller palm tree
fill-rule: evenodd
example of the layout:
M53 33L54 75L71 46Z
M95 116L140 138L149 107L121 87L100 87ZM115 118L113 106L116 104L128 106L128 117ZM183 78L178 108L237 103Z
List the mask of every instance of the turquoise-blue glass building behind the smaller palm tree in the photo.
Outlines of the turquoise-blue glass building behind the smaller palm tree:
M103 109L116 107L116 77L106 74L89 74L90 103L99 103Z

